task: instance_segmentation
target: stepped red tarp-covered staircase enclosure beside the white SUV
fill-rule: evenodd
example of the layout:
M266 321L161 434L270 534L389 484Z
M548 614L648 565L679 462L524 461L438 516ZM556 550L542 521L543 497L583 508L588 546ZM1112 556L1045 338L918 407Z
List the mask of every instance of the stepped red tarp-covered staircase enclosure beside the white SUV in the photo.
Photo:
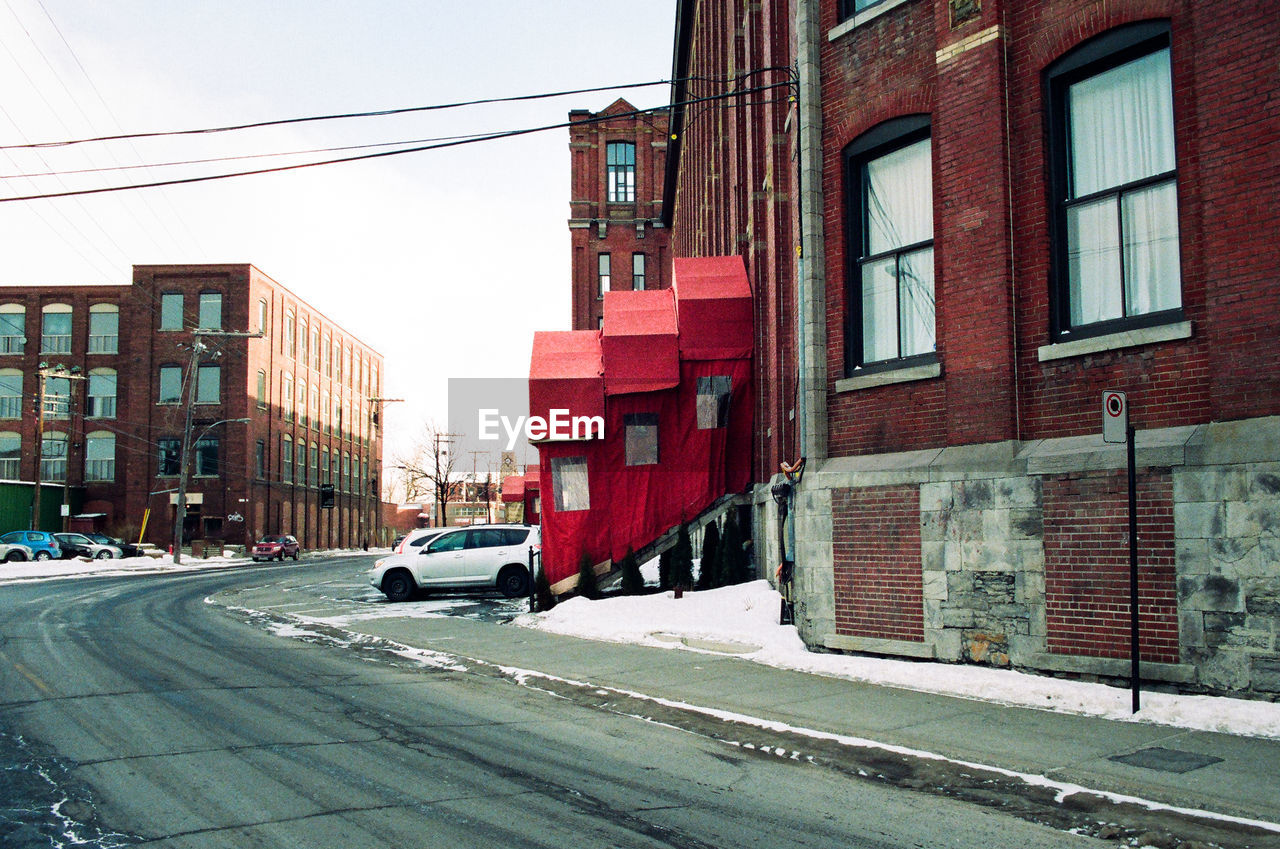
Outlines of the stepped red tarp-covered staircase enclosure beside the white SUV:
M545 496L543 565L553 585L572 579L584 554L593 565L618 562L628 547L643 548L750 483L754 394L746 270L740 259L717 257L677 260L676 274L676 291L605 295L604 438L538 446ZM620 309L621 318L614 311ZM713 387L728 391L722 416L714 412ZM531 383L531 411L547 406L535 407L532 396ZM699 426L699 406L701 424L712 426ZM658 462L627 465L628 416L634 426L657 417ZM557 510L557 467L562 478L581 481L564 505L571 510Z

